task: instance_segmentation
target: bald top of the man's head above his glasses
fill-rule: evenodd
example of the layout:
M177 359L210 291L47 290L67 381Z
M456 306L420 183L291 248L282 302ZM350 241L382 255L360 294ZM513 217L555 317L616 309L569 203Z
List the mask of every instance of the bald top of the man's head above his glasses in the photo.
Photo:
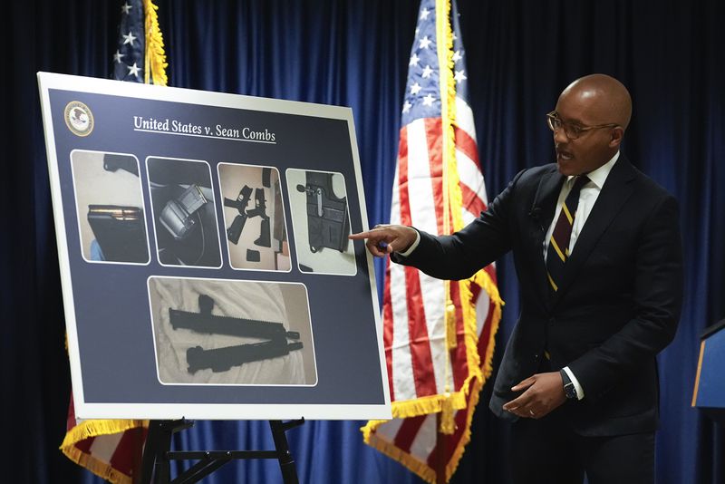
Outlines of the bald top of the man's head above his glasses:
M595 124L617 123L624 130L632 117L632 98L622 82L606 74L590 74L569 84L564 97L587 106Z

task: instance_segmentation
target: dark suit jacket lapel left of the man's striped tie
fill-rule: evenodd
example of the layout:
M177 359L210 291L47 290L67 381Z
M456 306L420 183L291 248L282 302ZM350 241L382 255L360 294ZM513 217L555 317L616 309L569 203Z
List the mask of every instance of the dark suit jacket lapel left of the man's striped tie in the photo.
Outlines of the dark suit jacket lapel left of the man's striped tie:
M546 237L546 229L554 219L556 200L559 198L559 192L564 180L565 176L556 169L541 177L531 209L532 213L536 213L536 217L532 217L535 227L531 231L533 241L530 246L531 253L529 257L533 261L533 277L536 282L536 290L544 305L547 305L550 300L546 278L546 261L544 260L544 237Z

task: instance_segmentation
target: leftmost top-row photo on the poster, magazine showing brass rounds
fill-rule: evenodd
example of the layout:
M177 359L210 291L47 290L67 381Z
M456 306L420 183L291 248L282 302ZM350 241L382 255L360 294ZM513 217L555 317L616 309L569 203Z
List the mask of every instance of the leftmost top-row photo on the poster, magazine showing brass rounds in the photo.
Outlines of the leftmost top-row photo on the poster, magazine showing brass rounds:
M87 262L148 264L139 161L132 155L73 150L73 189Z

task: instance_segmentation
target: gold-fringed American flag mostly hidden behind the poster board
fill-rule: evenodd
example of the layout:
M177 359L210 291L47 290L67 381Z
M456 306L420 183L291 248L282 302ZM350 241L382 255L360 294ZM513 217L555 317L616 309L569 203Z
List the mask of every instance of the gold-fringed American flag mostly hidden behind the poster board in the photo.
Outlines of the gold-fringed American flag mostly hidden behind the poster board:
M123 1L112 60L114 79L166 85L166 55L156 9L151 0ZM71 395L61 450L103 479L131 484L139 477L148 426L148 421L77 419Z

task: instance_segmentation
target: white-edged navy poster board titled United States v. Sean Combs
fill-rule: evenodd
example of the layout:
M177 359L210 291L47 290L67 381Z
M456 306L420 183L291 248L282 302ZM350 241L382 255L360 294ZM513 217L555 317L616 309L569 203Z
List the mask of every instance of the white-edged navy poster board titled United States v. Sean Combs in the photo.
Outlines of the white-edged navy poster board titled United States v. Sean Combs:
M79 418L391 417L349 108L38 80Z

